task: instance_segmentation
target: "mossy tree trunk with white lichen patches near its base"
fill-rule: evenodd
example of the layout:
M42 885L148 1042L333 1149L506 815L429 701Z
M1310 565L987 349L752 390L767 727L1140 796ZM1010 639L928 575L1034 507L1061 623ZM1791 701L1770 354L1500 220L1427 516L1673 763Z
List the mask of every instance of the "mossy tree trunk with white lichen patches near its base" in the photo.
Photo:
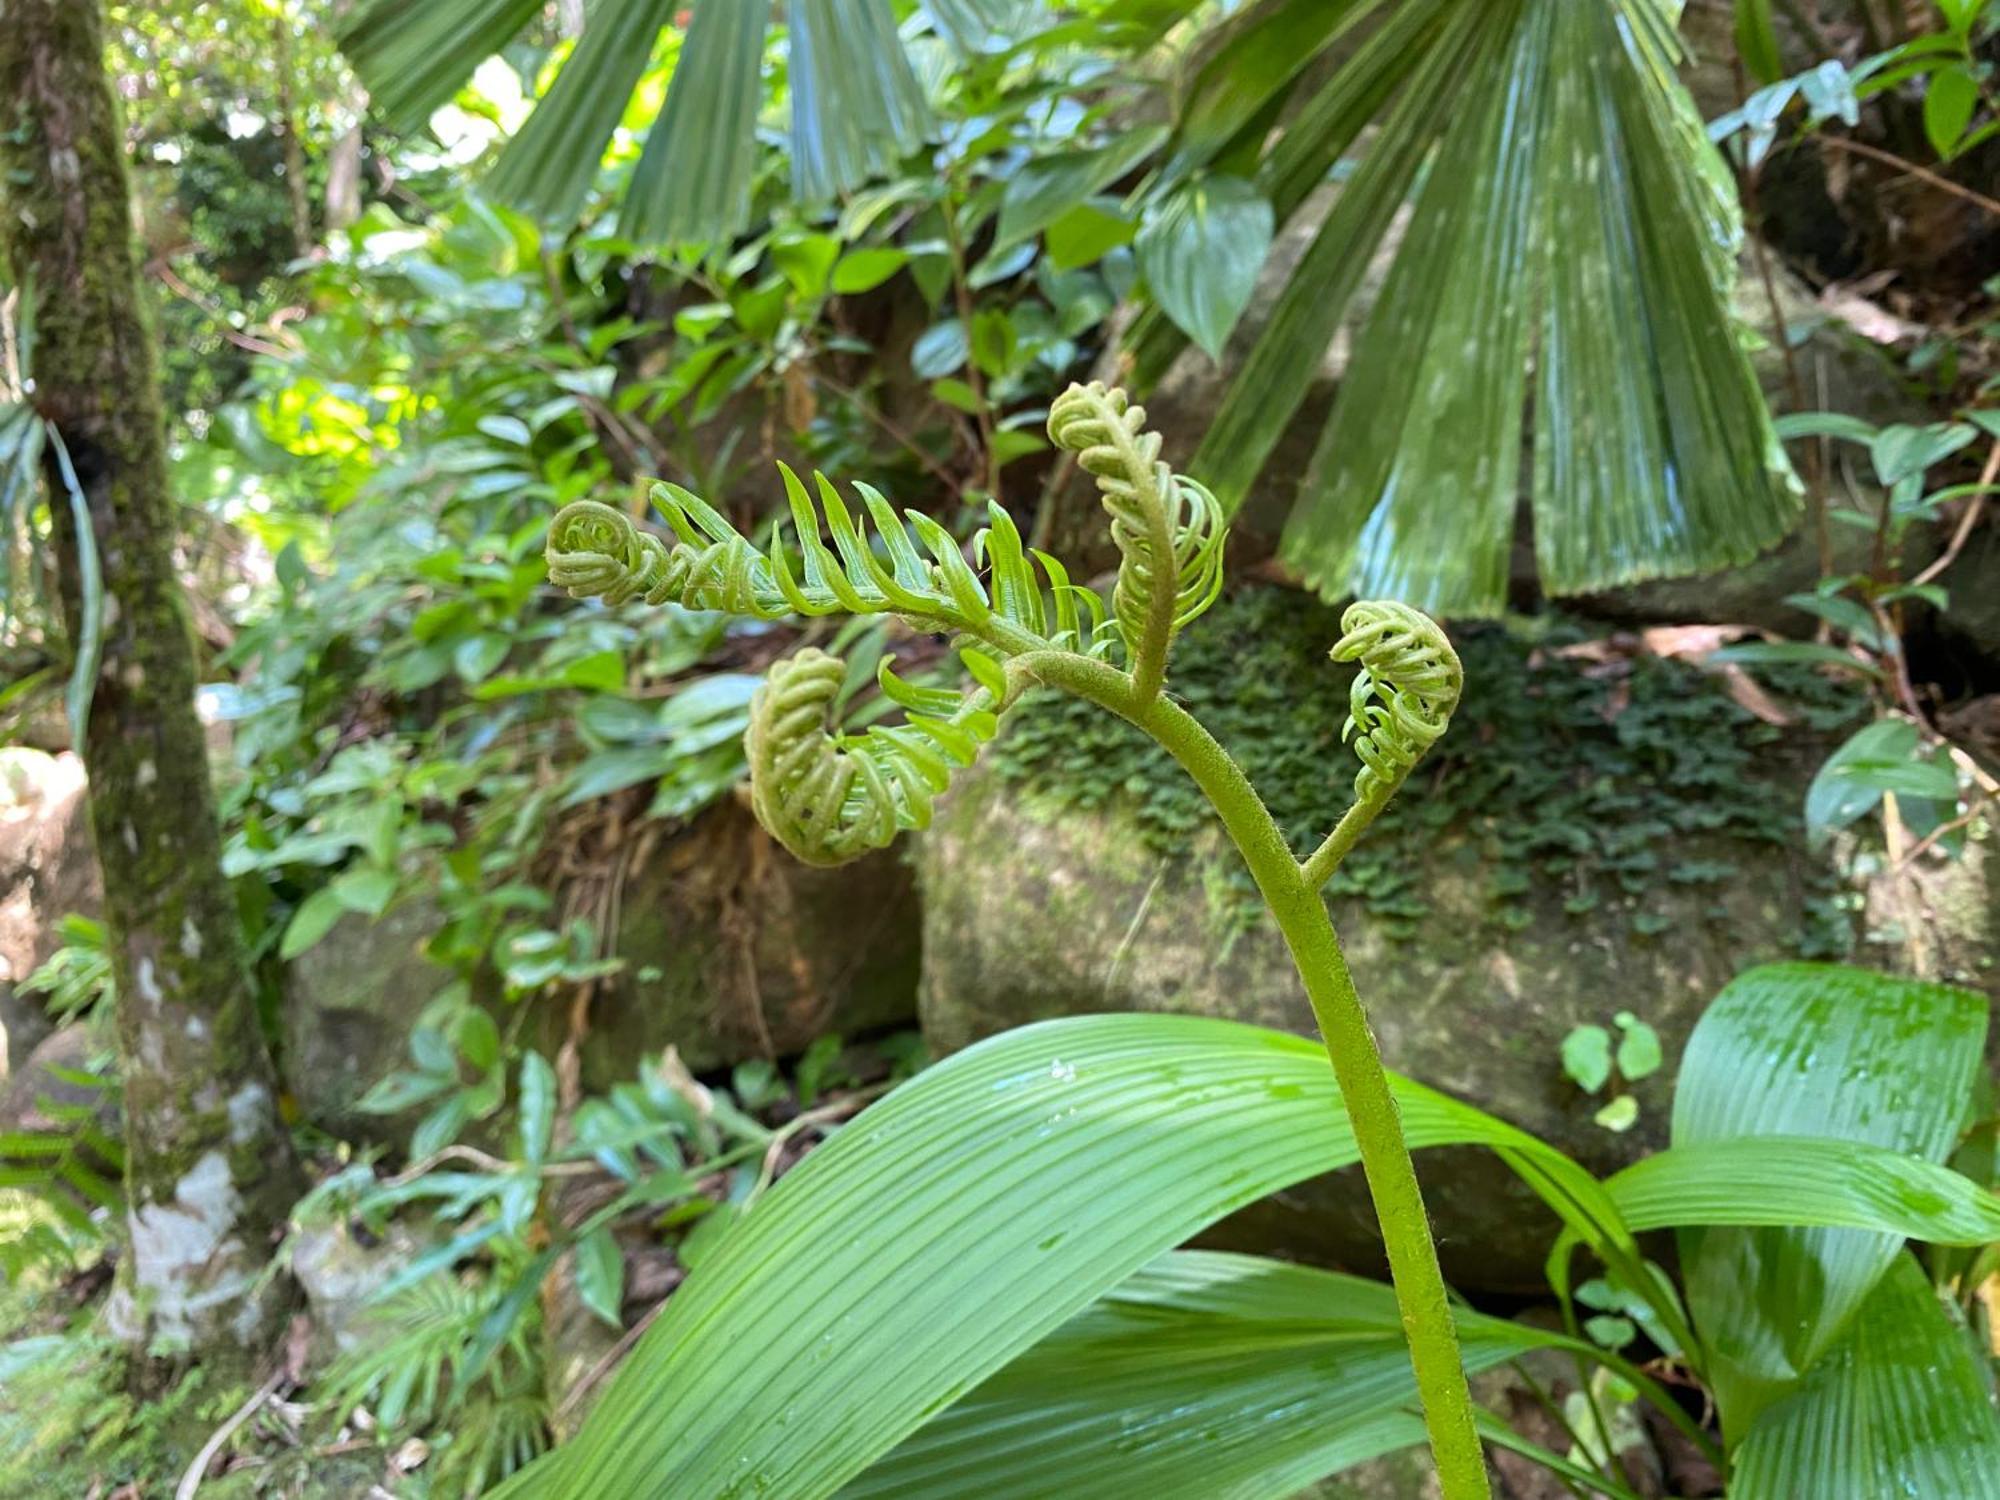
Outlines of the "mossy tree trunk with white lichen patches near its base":
M0 0L0 248L30 288L30 400L74 462L104 584L84 762L124 1072L132 1250L114 1322L156 1354L240 1368L286 1312L286 1284L256 1290L256 1280L298 1168L218 862L98 0ZM48 450L62 610L76 640L78 538ZM160 1372L146 1360L136 1368L142 1386Z

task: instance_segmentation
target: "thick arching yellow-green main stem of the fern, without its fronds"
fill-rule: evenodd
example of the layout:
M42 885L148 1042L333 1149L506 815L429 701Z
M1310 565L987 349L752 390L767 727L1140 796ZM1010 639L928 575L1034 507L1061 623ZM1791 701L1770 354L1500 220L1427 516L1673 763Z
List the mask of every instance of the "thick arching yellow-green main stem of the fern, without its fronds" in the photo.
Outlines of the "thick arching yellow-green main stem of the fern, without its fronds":
M1340 1084L1340 1100L1354 1126L1444 1500L1488 1500L1486 1456L1472 1416L1472 1392L1466 1388L1430 1218L1404 1142L1402 1112L1318 884L1308 882L1306 866L1292 854L1242 766L1172 698L1158 690L1142 698L1126 672L1070 652L1030 652L1008 662L1008 672L1086 698L1158 740L1202 788L1242 852L1306 984L1312 1016ZM1366 802L1376 798L1364 798L1356 810ZM1372 816L1370 812L1368 818ZM1346 824L1348 818L1342 820ZM1358 834L1360 826L1354 828L1354 836ZM1340 836L1338 828L1334 836ZM1322 844L1322 852L1324 848ZM1316 860L1318 856L1308 860L1308 866Z

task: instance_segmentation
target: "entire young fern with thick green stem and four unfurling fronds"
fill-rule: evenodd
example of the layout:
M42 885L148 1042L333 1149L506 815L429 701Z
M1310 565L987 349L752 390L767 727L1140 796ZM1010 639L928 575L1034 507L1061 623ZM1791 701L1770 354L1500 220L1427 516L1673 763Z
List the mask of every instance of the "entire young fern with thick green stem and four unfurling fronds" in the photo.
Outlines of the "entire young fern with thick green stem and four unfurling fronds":
M916 510L896 512L856 484L850 504L822 476L814 496L782 468L786 516L762 550L698 496L652 488L674 540L590 500L564 506L548 536L548 574L578 598L646 600L778 620L894 614L952 638L964 692L918 688L884 660L884 694L902 724L842 734L832 724L846 678L836 656L804 648L772 666L744 736L758 820L808 864L842 864L930 824L952 774L974 762L1000 716L1030 686L1054 686L1146 730L1206 792L1284 932L1354 1124L1410 1336L1424 1422L1448 1500L1486 1496L1472 1400L1430 1224L1368 1018L1354 994L1320 888L1362 830L1444 734L1462 688L1458 656L1434 620L1394 602L1342 616L1332 656L1360 662L1348 738L1360 758L1354 804L1304 860L1294 856L1242 768L1164 690L1180 630L1222 588L1228 534L1216 498L1160 460L1160 436L1122 390L1070 386L1048 434L1092 474L1118 548L1110 608L1060 562L1022 544L1008 514L960 548Z

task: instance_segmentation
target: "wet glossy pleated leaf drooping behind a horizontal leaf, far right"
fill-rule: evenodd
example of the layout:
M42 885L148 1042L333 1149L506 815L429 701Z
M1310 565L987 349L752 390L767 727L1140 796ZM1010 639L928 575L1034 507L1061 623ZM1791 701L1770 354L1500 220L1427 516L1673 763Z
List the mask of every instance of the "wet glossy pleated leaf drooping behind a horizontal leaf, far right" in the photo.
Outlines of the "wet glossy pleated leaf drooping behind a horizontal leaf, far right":
M1986 1000L1834 964L1774 964L1738 976L1694 1028L1680 1064L1672 1138L1680 1148L1816 1134L1940 1162L1986 1040ZM1672 1152L1670 1152L1672 1154ZM1642 1164L1644 1166L1644 1164ZM1864 1168L1864 1178L1870 1176ZM1800 1170L1806 1178L1806 1170ZM1884 1206L1942 1208L1908 1170L1818 1180ZM1784 1192L1764 1184L1752 1196ZM1938 1196L1950 1196L1938 1190ZM1980 1212L1990 1214L1992 1200ZM1688 1306L1708 1348L1724 1432L1748 1430L1838 1338L1898 1254L1908 1224L1708 1228L1682 1236Z

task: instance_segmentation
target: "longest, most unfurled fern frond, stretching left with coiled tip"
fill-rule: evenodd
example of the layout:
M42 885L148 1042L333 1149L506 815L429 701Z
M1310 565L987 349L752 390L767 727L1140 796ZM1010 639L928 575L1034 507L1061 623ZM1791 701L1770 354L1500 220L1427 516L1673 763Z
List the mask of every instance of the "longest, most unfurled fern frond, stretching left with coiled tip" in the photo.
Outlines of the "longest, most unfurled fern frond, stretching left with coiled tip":
M966 562L958 540L930 516L898 516L866 484L854 486L866 512L856 514L824 474L812 476L814 508L798 476L778 468L792 524L780 522L766 552L700 496L654 484L672 546L610 506L576 500L548 528L548 576L576 598L606 604L644 598L758 620L900 614L920 630L976 636L1000 656L1102 646L1104 602L1072 584L1060 562L1024 548L1000 506L988 506L988 526L972 538L974 562ZM986 582L974 564L986 568Z

